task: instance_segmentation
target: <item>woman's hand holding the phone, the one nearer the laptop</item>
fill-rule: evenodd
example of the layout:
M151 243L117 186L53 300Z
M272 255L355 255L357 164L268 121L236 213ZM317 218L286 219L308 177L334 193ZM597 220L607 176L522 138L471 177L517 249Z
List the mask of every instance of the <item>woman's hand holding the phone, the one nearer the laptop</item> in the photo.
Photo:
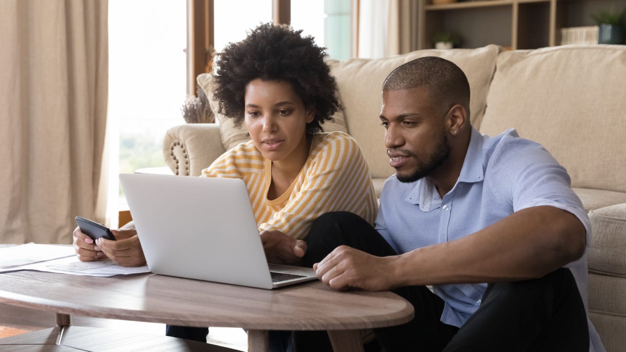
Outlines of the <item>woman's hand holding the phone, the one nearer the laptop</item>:
M120 229L111 232L117 241L99 238L96 240L96 249L104 252L120 266L134 267L146 264L137 230Z

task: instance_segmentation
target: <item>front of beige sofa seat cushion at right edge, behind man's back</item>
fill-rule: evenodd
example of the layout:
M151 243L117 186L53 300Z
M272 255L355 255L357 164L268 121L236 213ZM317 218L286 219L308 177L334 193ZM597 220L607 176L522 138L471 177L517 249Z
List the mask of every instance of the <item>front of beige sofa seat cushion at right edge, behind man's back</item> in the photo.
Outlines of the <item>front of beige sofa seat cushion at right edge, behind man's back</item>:
M589 270L626 277L626 203L592 210L589 219Z

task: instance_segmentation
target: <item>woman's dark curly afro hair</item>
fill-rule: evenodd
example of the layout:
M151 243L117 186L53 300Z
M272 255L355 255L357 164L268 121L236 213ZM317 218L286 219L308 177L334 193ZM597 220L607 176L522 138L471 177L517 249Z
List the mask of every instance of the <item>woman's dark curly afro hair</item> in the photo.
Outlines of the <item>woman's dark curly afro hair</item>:
M332 120L341 110L337 83L324 61L324 48L312 36L301 36L286 25L260 24L237 43L229 43L218 56L213 98L219 112L235 119L238 127L244 122L245 87L250 81L287 81L315 118L307 123L307 134L321 132L322 124Z

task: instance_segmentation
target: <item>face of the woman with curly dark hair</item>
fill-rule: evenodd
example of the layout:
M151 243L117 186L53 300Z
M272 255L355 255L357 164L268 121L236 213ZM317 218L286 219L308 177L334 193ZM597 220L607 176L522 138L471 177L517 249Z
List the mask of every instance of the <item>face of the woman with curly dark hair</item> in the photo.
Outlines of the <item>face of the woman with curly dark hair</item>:
M263 81L245 86L245 127L261 154L274 162L289 160L307 150L307 111L287 81Z

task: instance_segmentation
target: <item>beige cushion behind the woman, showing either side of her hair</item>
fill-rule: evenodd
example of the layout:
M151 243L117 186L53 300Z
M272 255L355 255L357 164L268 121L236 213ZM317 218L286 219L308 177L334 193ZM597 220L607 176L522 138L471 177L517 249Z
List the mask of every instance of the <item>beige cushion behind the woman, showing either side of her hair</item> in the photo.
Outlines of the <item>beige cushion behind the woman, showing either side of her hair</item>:
M217 117L217 122L220 124L220 132L224 148L228 150L241 142L249 141L250 137L247 136L248 132L244 125L236 127L232 118L227 118L217 112L220 106L217 100L213 100L213 75L210 73L198 75L197 82L200 88L202 88L207 95L211 110ZM326 121L322 125L324 132L347 132L346 119L344 118L343 111L337 111L337 113L332 115L332 118L333 119L331 121Z

